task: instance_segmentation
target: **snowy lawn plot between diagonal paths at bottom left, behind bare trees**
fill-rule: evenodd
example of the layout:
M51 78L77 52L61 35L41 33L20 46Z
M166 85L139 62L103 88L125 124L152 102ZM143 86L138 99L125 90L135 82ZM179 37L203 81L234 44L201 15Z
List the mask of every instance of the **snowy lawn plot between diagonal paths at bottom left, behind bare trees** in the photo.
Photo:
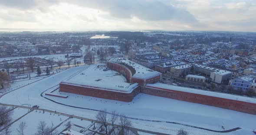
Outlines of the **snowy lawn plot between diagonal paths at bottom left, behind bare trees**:
M25 135L34 135L36 133L37 126L40 121L46 122L48 126L51 126L53 122L53 125L57 126L66 119L68 119L67 116L59 116L53 113L50 114L48 112L43 113L43 111L36 112L34 110L33 112L27 114L26 116L24 116L23 118L21 118L20 120L18 120L10 126L10 129L12 131L11 134L18 135L16 129L19 127L20 122L23 121L26 122L27 125L27 128L24 130Z

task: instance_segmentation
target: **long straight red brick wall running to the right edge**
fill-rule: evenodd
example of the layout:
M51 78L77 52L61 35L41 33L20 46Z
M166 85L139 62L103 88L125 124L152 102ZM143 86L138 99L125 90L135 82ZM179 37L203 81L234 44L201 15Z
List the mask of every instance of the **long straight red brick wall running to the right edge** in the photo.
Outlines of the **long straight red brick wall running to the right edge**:
M166 98L171 98L174 100L182 100L192 103L200 103L208 106L215 106L224 109L235 110L243 113L249 113L256 115L256 104L255 103L248 103L238 100L230 100L224 99L220 97L214 96L207 96L207 95L200 95L196 93L188 93L182 92L177 90L170 90L158 87L148 87L146 86L142 93L154 95L154 96L161 96Z

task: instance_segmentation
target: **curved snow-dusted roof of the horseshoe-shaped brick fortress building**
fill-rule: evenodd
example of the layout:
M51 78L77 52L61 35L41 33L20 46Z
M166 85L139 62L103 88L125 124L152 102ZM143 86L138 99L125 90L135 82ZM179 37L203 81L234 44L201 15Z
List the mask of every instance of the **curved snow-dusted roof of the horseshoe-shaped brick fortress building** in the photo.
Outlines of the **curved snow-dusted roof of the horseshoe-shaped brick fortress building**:
M125 58L111 58L108 61L115 62L115 63L125 63L125 64L128 64L129 66L133 67L135 69L136 73L132 77L136 77L136 78L146 79L146 78L154 77L154 76L161 74L158 71L151 70L147 67L144 67L140 64L137 64L137 63L130 61L128 59L125 59Z

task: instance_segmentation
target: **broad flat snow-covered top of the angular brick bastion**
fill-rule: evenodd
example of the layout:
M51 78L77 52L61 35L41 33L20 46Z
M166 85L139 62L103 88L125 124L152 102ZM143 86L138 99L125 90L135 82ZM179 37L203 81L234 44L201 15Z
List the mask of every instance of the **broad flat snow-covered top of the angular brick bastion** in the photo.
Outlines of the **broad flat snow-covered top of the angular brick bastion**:
M128 83L126 78L116 71L111 69L103 71L106 67L105 64L92 64L61 83L122 93L131 93L134 88L138 87L138 83Z

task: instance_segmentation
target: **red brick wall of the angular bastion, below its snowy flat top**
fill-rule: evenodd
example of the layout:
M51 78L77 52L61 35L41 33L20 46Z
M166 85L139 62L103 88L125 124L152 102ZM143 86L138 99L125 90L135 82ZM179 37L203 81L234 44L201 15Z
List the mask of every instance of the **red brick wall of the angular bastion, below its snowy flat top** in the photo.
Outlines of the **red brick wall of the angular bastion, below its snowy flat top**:
M92 87L81 87L62 83L59 84L59 91L124 102L131 102L133 97L140 92L139 87L135 88L131 93L120 93L116 91L100 90Z

